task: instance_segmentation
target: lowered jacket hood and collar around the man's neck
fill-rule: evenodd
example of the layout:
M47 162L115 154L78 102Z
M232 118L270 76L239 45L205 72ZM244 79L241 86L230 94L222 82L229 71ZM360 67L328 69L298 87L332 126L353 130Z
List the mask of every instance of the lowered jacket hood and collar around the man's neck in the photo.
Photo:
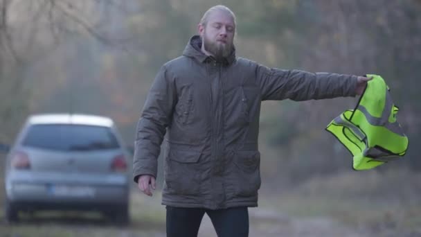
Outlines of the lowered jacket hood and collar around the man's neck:
M205 62L208 58L213 58L208 56L201 51L201 37L199 35L194 35L190 38L186 48L183 51L183 55L189 58L195 58L199 62ZM226 64L232 64L235 61L235 47L231 54L224 58Z

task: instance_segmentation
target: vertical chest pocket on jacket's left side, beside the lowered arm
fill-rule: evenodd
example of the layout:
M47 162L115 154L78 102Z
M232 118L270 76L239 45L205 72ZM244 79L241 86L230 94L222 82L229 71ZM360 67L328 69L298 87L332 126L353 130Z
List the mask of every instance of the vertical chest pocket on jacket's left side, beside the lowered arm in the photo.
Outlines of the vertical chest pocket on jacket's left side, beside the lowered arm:
M193 85L183 85L179 91L179 100L175 107L175 119L182 125L188 125L192 123L194 110Z

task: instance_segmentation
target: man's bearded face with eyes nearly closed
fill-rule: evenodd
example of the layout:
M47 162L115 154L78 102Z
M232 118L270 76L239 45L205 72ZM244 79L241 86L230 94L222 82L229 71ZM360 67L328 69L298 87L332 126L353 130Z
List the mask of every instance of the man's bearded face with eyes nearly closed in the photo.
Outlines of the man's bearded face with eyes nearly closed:
M217 10L208 17L206 26L199 26L204 49L215 58L226 58L233 50L235 24L227 12Z

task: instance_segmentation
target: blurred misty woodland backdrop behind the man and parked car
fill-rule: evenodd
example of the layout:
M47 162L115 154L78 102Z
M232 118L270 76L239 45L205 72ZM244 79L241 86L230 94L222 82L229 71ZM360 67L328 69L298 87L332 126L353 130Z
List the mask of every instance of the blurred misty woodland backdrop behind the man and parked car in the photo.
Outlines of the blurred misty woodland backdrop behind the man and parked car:
M111 117L132 146L156 72L181 55L204 12L220 3L237 16L240 57L281 69L383 76L409 137L399 161L354 171L348 150L324 129L358 98L262 103L259 209L273 213L251 215L251 229L274 229L270 223L285 220L311 226L307 218L316 218L315 226L331 219L344 226L324 236L421 235L419 0L0 0L0 143L12 144L30 114L71 112ZM159 191L152 201L135 187L132 193L134 220L125 231L165 233ZM32 225L1 225L0 233L26 236ZM57 225L57 231L69 228ZM113 231L110 236L121 233Z

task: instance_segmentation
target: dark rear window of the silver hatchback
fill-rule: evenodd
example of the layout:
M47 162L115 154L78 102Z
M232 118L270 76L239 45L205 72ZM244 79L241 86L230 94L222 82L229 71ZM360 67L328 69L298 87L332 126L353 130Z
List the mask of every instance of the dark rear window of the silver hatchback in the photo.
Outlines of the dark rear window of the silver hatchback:
M42 124L30 126L23 146L61 151L118 148L110 128L91 125Z

